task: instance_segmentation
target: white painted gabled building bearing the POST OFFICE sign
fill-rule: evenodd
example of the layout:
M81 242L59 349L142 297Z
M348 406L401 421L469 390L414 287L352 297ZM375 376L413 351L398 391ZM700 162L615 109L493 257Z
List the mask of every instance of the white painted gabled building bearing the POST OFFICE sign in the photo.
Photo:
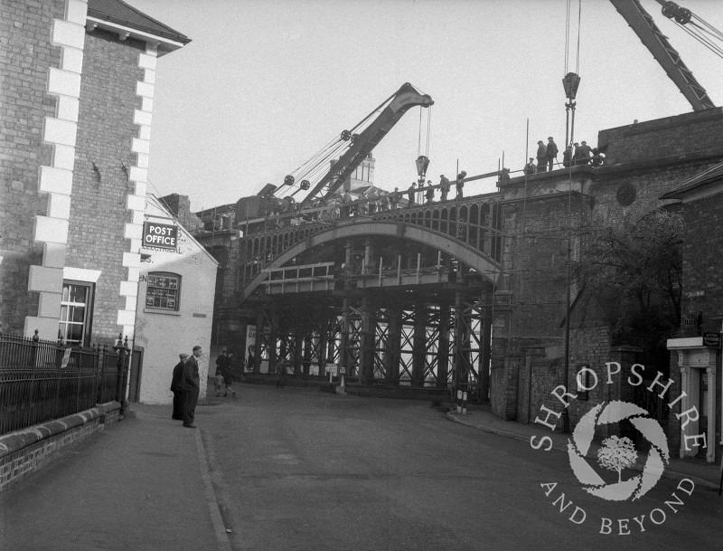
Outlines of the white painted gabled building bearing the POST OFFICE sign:
M178 355L190 355L199 345L205 396L218 262L152 195L146 196L140 252L135 346L144 353L140 374L131 376L130 395L142 404L171 404Z

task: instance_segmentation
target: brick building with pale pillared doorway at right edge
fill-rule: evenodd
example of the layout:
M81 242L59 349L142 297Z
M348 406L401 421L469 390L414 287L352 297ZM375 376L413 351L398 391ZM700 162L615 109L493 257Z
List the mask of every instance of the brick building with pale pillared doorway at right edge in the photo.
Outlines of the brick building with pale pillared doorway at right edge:
M715 336L723 332L723 163L671 187L663 199L678 199L685 223L681 334L668 341L671 377L681 381L683 411L696 407L700 419L687 433L705 434L708 447L686 448L681 456L704 455L709 462L721 453L721 349ZM719 337L718 337L719 339ZM680 430L680 428L679 428Z

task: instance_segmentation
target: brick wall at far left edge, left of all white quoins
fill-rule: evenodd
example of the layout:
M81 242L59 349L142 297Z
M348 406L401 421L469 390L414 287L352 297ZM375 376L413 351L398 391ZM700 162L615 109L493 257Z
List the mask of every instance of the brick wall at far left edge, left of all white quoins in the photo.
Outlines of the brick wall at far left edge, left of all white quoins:
M46 93L49 67L60 65L60 48L51 44L52 19L65 2L26 0L0 3L0 323L22 333L25 316L34 316L38 297L27 292L28 271L42 255L32 246L35 214L45 214L38 194L38 167L49 165L51 147L42 144L42 122L55 115L55 98Z

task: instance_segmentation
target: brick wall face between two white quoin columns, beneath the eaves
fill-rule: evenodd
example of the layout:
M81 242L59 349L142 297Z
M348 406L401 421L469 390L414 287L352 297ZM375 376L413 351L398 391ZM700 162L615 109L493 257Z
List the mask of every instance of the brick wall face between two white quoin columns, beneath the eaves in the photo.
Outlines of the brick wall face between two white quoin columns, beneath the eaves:
M93 340L117 335L117 312L125 308L118 290L127 279L121 261L128 245L121 236L130 222L126 202L134 186L123 166L135 160L131 140L138 133L134 109L141 107L136 81L143 80L138 67L142 52L145 43L132 38L121 43L117 34L99 29L86 33L66 265L102 272Z

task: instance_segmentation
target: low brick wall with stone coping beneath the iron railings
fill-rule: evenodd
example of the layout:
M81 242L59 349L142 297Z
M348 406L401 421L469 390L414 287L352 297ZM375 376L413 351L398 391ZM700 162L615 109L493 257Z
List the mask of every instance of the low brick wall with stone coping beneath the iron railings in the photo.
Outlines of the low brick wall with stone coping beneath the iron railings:
M42 470L105 424L119 420L120 404L98 404L80 413L0 436L0 492Z

